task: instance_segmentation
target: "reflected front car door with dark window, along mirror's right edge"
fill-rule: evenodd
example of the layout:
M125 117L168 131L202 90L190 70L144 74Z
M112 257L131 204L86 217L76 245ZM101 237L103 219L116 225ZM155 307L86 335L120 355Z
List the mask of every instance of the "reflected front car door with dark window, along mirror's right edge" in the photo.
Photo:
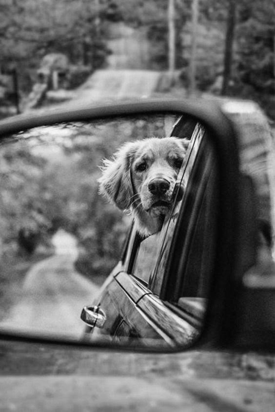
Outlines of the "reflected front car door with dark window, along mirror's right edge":
M185 194L162 228L165 236L154 273L149 274L152 293L137 303L174 342L184 345L202 326L216 247L218 181L214 149L205 137L203 128L196 126L179 176ZM141 262L144 256L141 251Z

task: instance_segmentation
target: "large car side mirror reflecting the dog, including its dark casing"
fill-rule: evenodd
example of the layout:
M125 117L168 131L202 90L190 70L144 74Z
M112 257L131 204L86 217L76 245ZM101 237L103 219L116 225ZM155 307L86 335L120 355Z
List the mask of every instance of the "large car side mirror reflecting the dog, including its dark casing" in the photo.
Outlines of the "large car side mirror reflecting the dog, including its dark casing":
M274 169L266 135L237 128L238 114L263 124L245 107L142 101L0 122L0 337L274 350Z

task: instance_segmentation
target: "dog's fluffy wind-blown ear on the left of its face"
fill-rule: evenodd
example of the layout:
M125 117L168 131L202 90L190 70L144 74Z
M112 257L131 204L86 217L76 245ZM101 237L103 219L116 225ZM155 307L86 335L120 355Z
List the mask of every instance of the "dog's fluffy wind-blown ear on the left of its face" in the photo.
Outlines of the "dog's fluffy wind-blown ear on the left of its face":
M130 168L137 142L126 143L113 160L104 160L102 176L98 179L99 193L114 202L119 209L127 209L134 196Z

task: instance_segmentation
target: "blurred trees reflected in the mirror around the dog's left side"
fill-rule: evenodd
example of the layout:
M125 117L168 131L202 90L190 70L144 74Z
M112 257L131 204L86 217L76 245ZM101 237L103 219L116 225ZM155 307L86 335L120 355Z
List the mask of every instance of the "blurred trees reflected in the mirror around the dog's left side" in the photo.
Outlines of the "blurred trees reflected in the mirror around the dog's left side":
M59 228L79 241L76 268L104 278L130 218L98 195L103 158L125 141L167 134L175 117L63 123L8 136L0 146L1 256L51 254Z

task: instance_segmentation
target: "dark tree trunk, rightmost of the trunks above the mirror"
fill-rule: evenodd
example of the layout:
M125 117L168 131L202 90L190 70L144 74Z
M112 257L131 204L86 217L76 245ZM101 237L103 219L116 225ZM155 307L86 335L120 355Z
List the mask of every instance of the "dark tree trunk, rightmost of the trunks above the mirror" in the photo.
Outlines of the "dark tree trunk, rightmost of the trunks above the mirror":
M226 24L225 50L224 50L224 66L223 66L223 82L221 94L228 93L228 86L231 76L232 60L233 60L233 43L234 32L236 25L236 0L229 0L228 15Z

